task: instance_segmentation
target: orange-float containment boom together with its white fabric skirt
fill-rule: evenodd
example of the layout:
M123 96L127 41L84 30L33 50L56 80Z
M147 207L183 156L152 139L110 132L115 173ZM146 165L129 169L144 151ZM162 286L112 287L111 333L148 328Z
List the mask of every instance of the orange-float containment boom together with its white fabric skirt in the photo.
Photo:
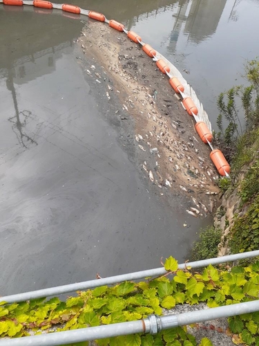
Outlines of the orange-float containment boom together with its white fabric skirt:
M23 6L22 0L0 0L0 3L1 2L3 2L4 5L20 6L20 8L21 6ZM209 125L207 125L204 121L202 121L202 119L207 120L208 117L207 117L206 111L204 111L202 107L202 104L200 104L200 101L198 100L198 98L195 97L195 92L193 91L193 89L191 88L189 84L186 84L186 80L182 78L182 75L180 74L178 69L176 69L175 66L171 64L171 62L166 63L162 58L160 58L163 56L157 51L155 51L155 49L153 49L149 44L145 44L144 42L142 42L142 38L140 37L140 35L137 35L133 30L127 31L124 28L123 24L119 23L118 21L115 21L114 19L107 20L106 17L102 13L90 11L90 10L84 10L79 8L78 6L69 5L66 3L64 4L51 3L50 1L44 1L44 0L35 0L35 1L32 1L32 3L28 3L26 1L25 4L33 5L35 6L35 8L41 8L42 10L35 9L35 12L37 13L50 14L52 13L51 11L52 8L55 8L58 10L63 10L64 11L63 15L71 19L79 19L80 14L86 15L90 17L91 19L108 23L108 25L111 26L111 28L114 28L115 30L126 33L128 38L131 39L136 44L141 44L144 53L146 53L148 57L153 58L153 60L156 62L158 69L160 69L162 73L169 76L170 78L169 83L172 86L175 93L178 93L182 96L182 105L184 109L186 109L187 113L189 113L190 116L194 116L196 120L195 129L198 132L202 142L208 143L209 146L211 147L212 152L210 154L210 157L215 167L217 168L218 172L220 173L220 175L222 176L229 175L229 172L230 172L229 163L227 163L226 158L224 158L224 155L222 154L222 152L220 152L219 149L213 149L211 145L213 136L209 129L209 127L211 127L210 122L208 120L207 123ZM10 7L10 10L11 9L12 8ZM21 8L21 10L22 9L23 8ZM70 15L66 14L66 12L70 12ZM159 55L160 57L157 57L157 55ZM169 65L171 66L173 71L171 71ZM170 73L173 73L173 75L170 75ZM195 100L198 101L198 107L195 104L196 101L193 102L193 99L192 99L193 95ZM199 113L199 109L200 109L200 113Z

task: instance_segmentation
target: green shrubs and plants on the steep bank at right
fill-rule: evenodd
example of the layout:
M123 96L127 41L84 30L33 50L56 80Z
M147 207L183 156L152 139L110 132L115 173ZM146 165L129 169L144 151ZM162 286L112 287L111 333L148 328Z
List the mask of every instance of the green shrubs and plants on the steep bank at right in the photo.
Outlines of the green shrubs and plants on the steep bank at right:
M240 205L227 235L231 253L258 250L259 248L259 61L251 60L245 66L247 86L233 86L218 97L219 132L215 143L219 145L231 164L231 174L219 180L226 197L238 190ZM229 222L229 220L227 220ZM215 230L213 230L215 232ZM213 241L212 241L213 242ZM207 237L195 244L211 249ZM196 249L196 250L195 250ZM215 255L212 251L208 257ZM200 253L202 257L202 251ZM195 257L198 259L198 257Z

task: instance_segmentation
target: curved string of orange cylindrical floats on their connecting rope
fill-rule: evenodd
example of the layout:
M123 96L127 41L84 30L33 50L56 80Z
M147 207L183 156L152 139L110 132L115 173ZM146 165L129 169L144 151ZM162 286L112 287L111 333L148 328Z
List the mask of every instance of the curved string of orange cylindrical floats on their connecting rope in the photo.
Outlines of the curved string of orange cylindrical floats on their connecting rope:
M57 10L62 10L64 12L73 13L74 15L86 15L91 19L107 23L109 26L111 26L111 28L114 28L115 30L124 32L129 39L131 39L136 44L140 44L146 55L148 55L148 57L153 58L153 61L155 61L158 69L160 69L162 73L169 76L169 83L172 86L175 93L178 93L182 96L182 107L184 107L184 109L187 111L187 113L189 113L190 116L193 116L193 118L195 118L195 129L198 132L200 138L202 139L202 142L209 144L209 147L211 148L210 158L215 167L217 168L219 174L221 176L229 176L231 167L229 163L227 163L227 160L226 158L224 158L224 155L222 154L220 149L213 149L213 146L211 145L213 135L207 127L206 123L200 119L200 111L198 109L199 107L195 105L190 95L186 94L182 82L180 82L180 80L174 75L171 75L171 70L168 64L166 64L166 62L164 62L163 59L157 58L158 52L155 51L155 49L153 49L149 44L145 44L144 42L142 42L142 38L139 35L137 35L137 33L135 33L133 30L126 30L123 24L119 23L118 21L115 21L114 19L106 19L106 17L102 13L84 10L82 8L79 8L78 6L69 5L67 3L58 4L44 0L0 0L0 3L3 3L4 5L8 6L28 5L34 6L35 8L39 9L42 8L45 10L52 10L52 8L55 8ZM175 68L175 66L173 67Z

